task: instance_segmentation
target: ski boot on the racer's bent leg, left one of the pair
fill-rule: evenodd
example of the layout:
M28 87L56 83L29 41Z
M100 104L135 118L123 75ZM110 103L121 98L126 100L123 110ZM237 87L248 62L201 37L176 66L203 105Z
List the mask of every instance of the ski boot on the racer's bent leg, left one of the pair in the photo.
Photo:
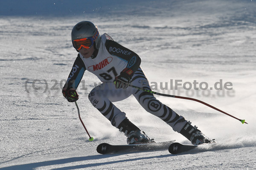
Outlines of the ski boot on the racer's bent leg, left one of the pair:
M127 136L127 144L155 143L154 139L149 138L145 132L142 132L131 123L128 118L123 120L117 128Z

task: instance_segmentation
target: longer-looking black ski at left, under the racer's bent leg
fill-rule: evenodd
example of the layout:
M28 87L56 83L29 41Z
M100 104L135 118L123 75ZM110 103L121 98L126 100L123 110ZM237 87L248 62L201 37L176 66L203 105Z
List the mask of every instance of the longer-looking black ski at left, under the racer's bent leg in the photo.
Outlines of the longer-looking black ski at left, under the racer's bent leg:
M123 153L123 152L139 152L139 151L154 151L166 150L174 141L156 142L148 144L126 144L126 145L111 145L107 143L99 144L97 152L100 154Z

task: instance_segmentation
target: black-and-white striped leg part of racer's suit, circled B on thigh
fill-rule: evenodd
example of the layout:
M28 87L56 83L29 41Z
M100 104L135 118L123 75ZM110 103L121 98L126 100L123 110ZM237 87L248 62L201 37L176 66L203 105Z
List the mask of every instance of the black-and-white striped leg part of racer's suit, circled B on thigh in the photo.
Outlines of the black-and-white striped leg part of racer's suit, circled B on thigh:
M134 73L134 76L131 79L131 84L143 89L151 90L148 81L140 68ZM172 109L158 101L151 93L130 86L127 89L116 89L113 82L106 82L95 87L89 94L89 100L102 115L111 121L113 126L118 127L126 116L125 112L118 109L112 102L122 101L130 95L134 95L146 111L161 118L177 132L180 132L187 122L182 116L177 115Z

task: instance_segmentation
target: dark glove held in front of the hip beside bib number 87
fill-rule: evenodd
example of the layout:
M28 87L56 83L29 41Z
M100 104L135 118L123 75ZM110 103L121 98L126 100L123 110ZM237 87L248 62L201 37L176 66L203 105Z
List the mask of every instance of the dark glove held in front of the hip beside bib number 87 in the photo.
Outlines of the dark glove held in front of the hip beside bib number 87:
M128 68L123 69L120 75L115 77L114 84L116 86L116 89L119 89L119 88L126 89L130 84L133 73L134 72L131 69L128 69Z

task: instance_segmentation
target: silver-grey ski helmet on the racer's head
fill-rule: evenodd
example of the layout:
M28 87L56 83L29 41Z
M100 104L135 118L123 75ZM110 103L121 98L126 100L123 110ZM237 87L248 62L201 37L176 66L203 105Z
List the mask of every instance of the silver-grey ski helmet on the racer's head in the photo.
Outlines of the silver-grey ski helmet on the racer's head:
M95 43L96 49L99 49L100 35L97 26L90 21L81 21L73 27L71 32L74 48L78 50L77 46L81 46L82 44L78 43L77 45L76 42L86 38L91 40L91 46ZM89 45L87 48L90 48L91 46Z

